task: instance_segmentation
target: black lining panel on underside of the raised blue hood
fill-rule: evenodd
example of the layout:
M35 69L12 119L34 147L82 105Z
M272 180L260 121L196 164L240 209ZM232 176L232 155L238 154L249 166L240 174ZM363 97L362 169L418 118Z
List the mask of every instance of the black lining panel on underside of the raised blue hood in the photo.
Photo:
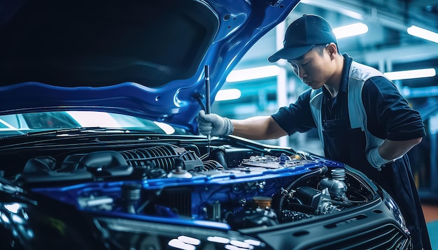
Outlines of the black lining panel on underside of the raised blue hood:
M1 85L161 87L195 74L218 27L199 1L28 1L2 30Z

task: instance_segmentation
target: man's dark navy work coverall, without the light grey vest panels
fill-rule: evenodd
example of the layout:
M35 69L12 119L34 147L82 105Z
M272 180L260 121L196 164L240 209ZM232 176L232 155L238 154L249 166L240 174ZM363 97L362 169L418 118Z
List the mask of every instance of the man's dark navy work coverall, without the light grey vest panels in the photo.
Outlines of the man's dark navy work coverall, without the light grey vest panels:
M339 92L335 98L323 87L323 138L325 157L346 163L363 172L382 186L397 205L411 232L414 249L431 249L421 201L414 183L407 154L376 170L369 165L365 154L365 133L352 129L348 118L348 69L353 59L344 54L344 69ZM295 103L272 115L289 135L316 128L310 109L311 89L304 91ZM368 130L376 137L388 140L411 140L425 136L421 116L413 110L397 87L383 77L369 78L362 89L367 112Z

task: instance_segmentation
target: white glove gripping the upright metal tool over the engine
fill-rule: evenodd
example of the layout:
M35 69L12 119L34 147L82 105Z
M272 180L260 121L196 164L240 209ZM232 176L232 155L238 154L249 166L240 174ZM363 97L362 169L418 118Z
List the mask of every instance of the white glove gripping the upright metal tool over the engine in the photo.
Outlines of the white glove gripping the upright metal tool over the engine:
M231 120L216 114L206 115L204 110L199 111L197 122L202 135L229 135L234 130Z

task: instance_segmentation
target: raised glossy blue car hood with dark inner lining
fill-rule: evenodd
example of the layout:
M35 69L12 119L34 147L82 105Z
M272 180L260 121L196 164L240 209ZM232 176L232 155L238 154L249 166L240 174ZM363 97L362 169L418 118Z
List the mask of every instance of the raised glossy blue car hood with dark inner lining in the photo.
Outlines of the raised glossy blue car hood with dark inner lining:
M0 115L100 110L196 132L243 54L299 0L0 0Z

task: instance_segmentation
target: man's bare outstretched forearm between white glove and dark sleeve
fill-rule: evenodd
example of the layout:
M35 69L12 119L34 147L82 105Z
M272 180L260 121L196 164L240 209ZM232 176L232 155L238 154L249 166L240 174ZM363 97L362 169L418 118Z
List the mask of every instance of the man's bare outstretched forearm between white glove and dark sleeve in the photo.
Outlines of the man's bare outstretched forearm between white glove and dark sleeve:
M251 140L269 140L288 135L271 116L250 117L242 120L231 120L234 131L232 135Z

